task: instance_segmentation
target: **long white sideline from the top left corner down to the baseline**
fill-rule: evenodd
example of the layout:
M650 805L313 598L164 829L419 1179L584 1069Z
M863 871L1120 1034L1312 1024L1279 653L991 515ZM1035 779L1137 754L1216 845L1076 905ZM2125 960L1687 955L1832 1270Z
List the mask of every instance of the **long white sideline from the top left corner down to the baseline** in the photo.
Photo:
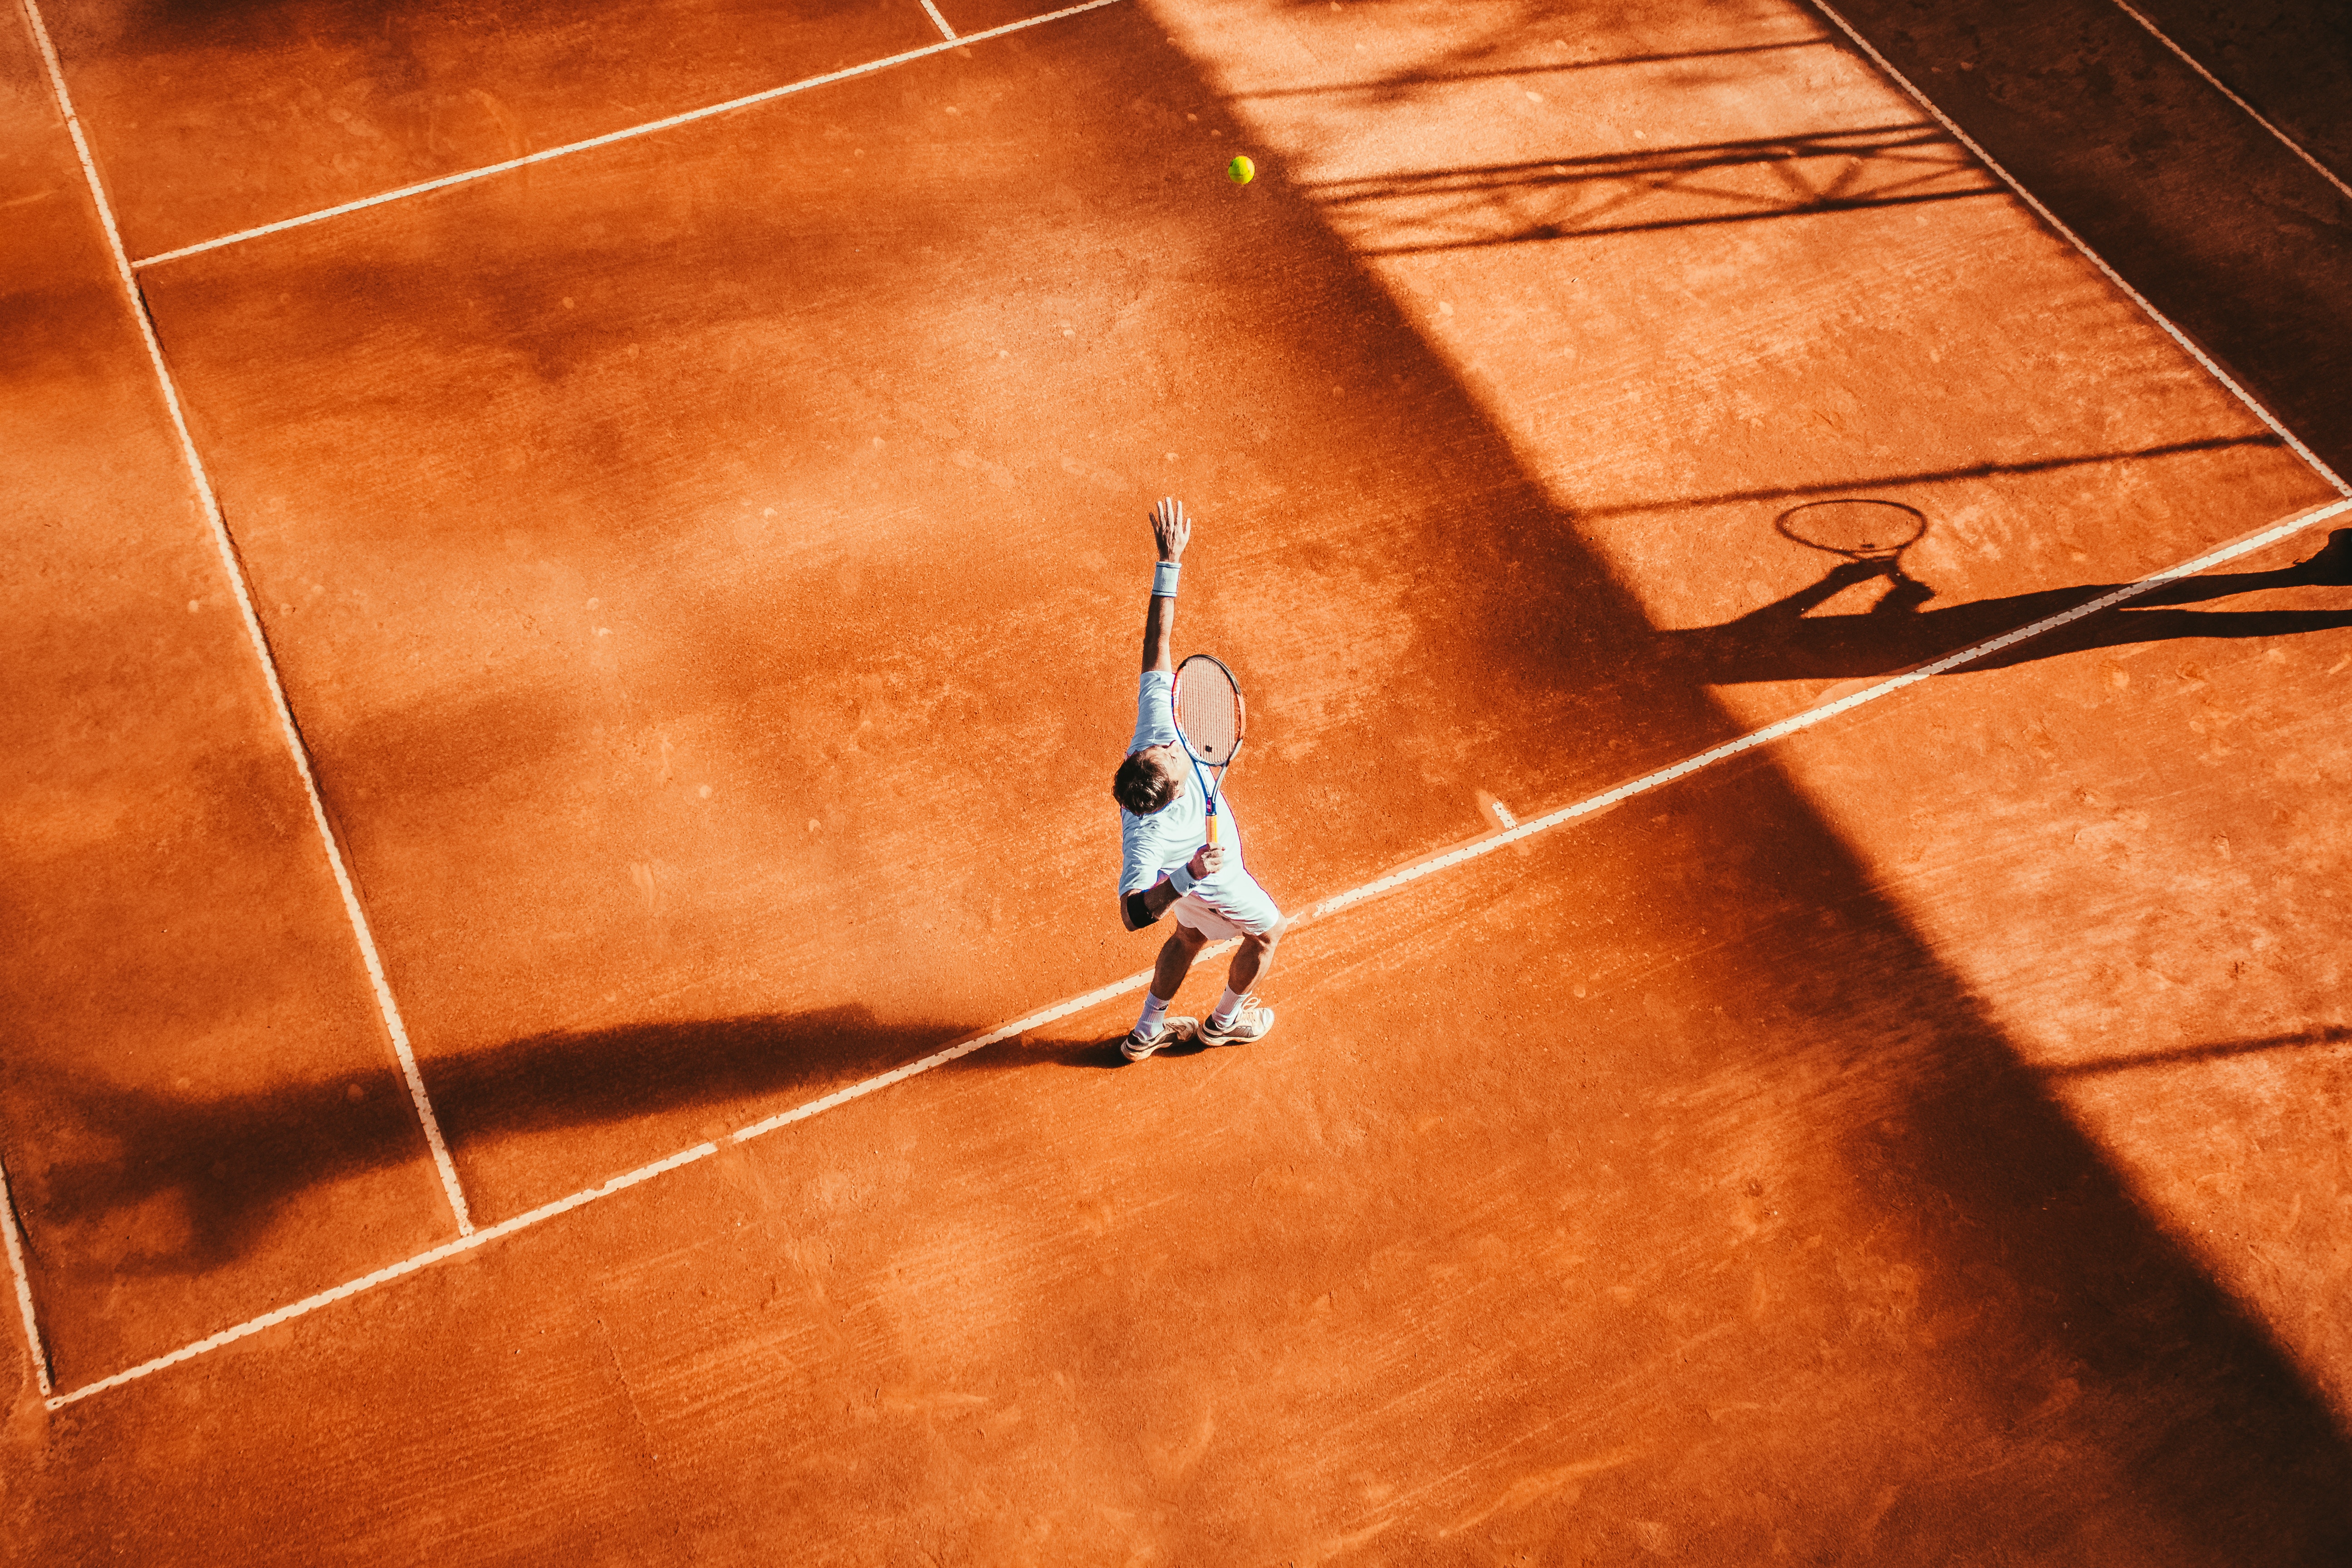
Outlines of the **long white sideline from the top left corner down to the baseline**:
M115 273L122 280L122 294L129 299L132 320L139 322L139 339L146 343L148 364L155 367L155 386L162 390L165 409L172 414L172 430L179 435L179 456L188 465L188 480L195 484L195 496L205 505L205 522L212 524L212 545L221 552L221 571L228 576L228 588L238 597L238 614L245 618L245 635L254 644L254 656L261 661L261 679L268 682L270 705L278 710L278 729L285 733L287 755L294 759L294 771L301 776L303 797L310 802L310 823L318 827L318 839L327 849L327 865L334 870L334 886L343 893L343 914L350 917L350 933L360 943L360 957L367 961L367 980L376 990L376 1011L383 1016L383 1027L393 1037L393 1056L400 1058L400 1074L409 1081L409 1100L416 1105L416 1119L426 1128L426 1143L433 1147L433 1164L440 1168L442 1192L449 1194L449 1211L456 1215L459 1234L473 1232L473 1220L466 1215L466 1192L456 1182L456 1166L449 1164L449 1145L442 1143L440 1119L433 1114L433 1100L426 1098L426 1081L416 1072L416 1053L409 1048L409 1030L400 1020L400 1004L393 1001L393 985L383 978L383 959L376 954L376 936L367 929L367 912L360 910L360 891L350 882L350 870L343 865L343 846L334 837L334 825L327 820L327 802L320 799L318 778L310 773L310 750L301 741L301 729L294 724L294 708L287 703L285 684L278 679L278 661L270 656L270 639L261 630L261 616L254 614L254 595L245 583L245 564L238 559L238 545L228 538L228 520L221 517L221 501L212 494L212 475L205 473L205 458L195 451L195 437L188 435L188 416L179 407L179 386L172 381L172 369L162 360L162 343L155 339L155 322L148 317L146 296L139 292L139 280L132 275L129 254L122 249L122 233L115 228L115 209L106 200L106 186L99 181L99 165L89 158L89 143L82 139L82 122L73 113L73 94L66 92L66 71L56 63L56 47L49 42L49 28L40 19L38 0L24 0L24 16L33 26L33 40L40 45L40 56L49 66L49 87L56 92L56 108L66 115L66 129L73 134L73 150L82 160L82 179L89 181L89 200L99 209L99 223L106 228L106 247L115 259Z

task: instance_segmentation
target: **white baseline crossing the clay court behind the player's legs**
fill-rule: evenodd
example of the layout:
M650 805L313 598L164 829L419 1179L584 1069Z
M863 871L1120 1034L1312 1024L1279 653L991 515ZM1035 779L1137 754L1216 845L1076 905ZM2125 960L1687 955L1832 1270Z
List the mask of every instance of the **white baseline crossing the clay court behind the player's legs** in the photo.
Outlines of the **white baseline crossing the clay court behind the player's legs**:
M1635 778L1632 783L1623 783L1623 785L1618 785L1613 790L1606 790L1604 795L1595 795L1590 799L1581 799L1573 806L1562 806L1559 811L1550 811L1545 816L1531 818L1531 820L1519 823L1517 827L1510 827L1505 832L1494 832L1494 835L1486 835L1482 839L1472 839L1470 844L1463 844L1461 849L1454 849L1454 851L1446 851L1442 856L1435 856L1430 860L1421 860L1421 863L1406 865L1406 867L1402 867L1397 872L1390 872L1388 877L1381 877L1378 882L1367 882L1359 889L1350 889L1345 893L1336 893L1331 898L1324 898L1322 903L1312 905L1305 914L1301 914L1296 919L1298 922L1324 919L1327 914L1336 914L1336 912L1348 910L1352 905L1359 905L1359 903L1364 903L1369 898L1378 898L1381 893L1392 893L1395 889L1406 886L1411 882L1421 882L1423 877L1432 877L1432 875L1437 875L1442 870L1451 870L1451 867L1463 865L1468 860L1477 860L1479 856L1489 856L1489 853L1503 849L1505 844L1519 844L1524 839L1536 837L1538 832L1550 832L1552 827L1559 827L1562 823L1573 823L1581 816L1592 816L1595 811L1606 811L1609 806L1616 806L1618 802L1632 799L1635 795L1646 795L1651 790L1661 790L1661 788L1675 783L1677 778L1689 778L1691 773L1696 773L1700 769L1708 769L1708 766L1715 766L1717 762L1726 762L1731 757L1738 757L1740 752L1750 752L1750 750L1755 750L1759 745L1769 745L1773 741L1792 736L1792 733L1797 733L1802 729L1811 729L1816 724L1828 724L1837 715L1853 712L1863 703L1875 703L1875 701L1879 701L1884 696L1891 696L1896 691L1903 691L1907 686L1917 686L1919 682L1924 682L1924 679L1929 679L1933 675L1943 675L1945 670L1957 670L1957 668L1976 663L1976 661L1980 661L1980 658L1985 658L1990 654L1999 654L2002 649L2011 649L2011 646L2016 646L2020 642L2027 642L2032 637L2042 637L2044 632L2053 632L2053 630L2058 630L2063 625L2070 625L2074 621L2082 621L2086 616L2096 616L2098 611L2112 609L2117 604L2124 604L2126 599L2138 599L2140 595L2152 592L2152 590L2157 590L2157 588L2161 588L2166 583L2173 583L2173 581L2185 578L2185 576L2194 576L2199 571L2209 571L2213 567L2220 567L2220 564L2232 562L2232 559L2237 559L2241 555L2249 555L2249 552L2260 550L2265 545L2272 545L2272 543L2277 543L2281 538L2300 534L2303 529L2310 529L2312 524L2326 522L2328 517L2336 517L2336 515L2343 515L2343 512L2352 512L2352 498L2336 501L2336 503L2321 505L2317 510L2298 512L2298 515L2293 515L2293 517L2288 517L2284 522L2274 522L2270 527L2256 529L2253 534L2246 534L2244 538L2237 538L2237 541L2230 541L2230 543L2218 545L2213 550L2206 550L2204 555L2199 555L2192 562L2183 562L2180 567L2169 567L2164 571L2157 571L2154 576L2145 576L2145 578L2140 578L2136 583L2126 583L2124 588L2105 592L2105 595L2100 595L2100 597L2096 597L2089 604L2082 604L2077 609L2060 611L2056 616L2046 616L2042 621L2034 621L2032 625L2023 625L2023 628L2018 628L2013 632L2004 632L1999 637L1990 637L1985 642L1978 642L1976 646L1962 649L1959 654L1947 654L1945 658L1938 658L1936 663L1922 665L1917 670L1905 670L1903 675L1891 675L1891 677L1882 679L1875 686L1856 691L1849 698L1842 698L1837 703L1823 703L1820 708L1809 708L1809 710L1804 710L1804 712L1799 712L1795 717L1780 719L1778 724L1766 724L1764 729L1757 729L1757 731L1750 731L1745 736L1738 736L1736 741L1726 741L1724 745L1717 745L1717 748L1710 748L1705 752L1698 752L1696 757L1686 757L1684 762L1677 762L1672 766L1658 769L1653 773L1644 773L1642 778ZM1232 947L1232 943L1211 943L1209 947L1202 947L1202 954L1223 952L1225 947ZM1110 985L1098 985L1096 990L1084 992L1082 997L1070 997L1068 1001L1056 1001L1054 1006L1042 1009L1037 1013L1030 1013L1028 1018L1018 1018L1014 1023L997 1025L995 1030L988 1030L985 1034L974 1034L971 1039L962 1039L962 1041L957 1041L957 1044L953 1044L953 1046L948 1046L943 1051L934 1051L931 1056L927 1056L922 1060L908 1063L906 1067L894 1067L891 1072L884 1072L884 1074L870 1077L870 1079L861 1079L861 1081L849 1084L847 1088L837 1088L837 1091L833 1091L833 1093L828 1093L828 1095L823 1095L818 1100L809 1100L807 1105L797 1105L797 1107L793 1107L788 1112L767 1117L764 1121L753 1121L750 1126L746 1126L746 1128L741 1128L736 1133L729 1133L727 1143L750 1143L753 1138L762 1138L767 1133L774 1133L776 1128L790 1126L795 1121L807 1121L809 1117L818 1117L818 1114L823 1114L828 1110L835 1110L840 1105L847 1105L851 1100L861 1100L861 1098L866 1098L866 1095L870 1095L870 1093L875 1093L880 1088L889 1088L891 1084L903 1084L906 1079L913 1079L913 1077L920 1077L924 1072L931 1072L934 1067L943 1067L943 1065L948 1065L948 1063L953 1063L957 1058L971 1056L974 1051L981 1051L985 1046L995 1046L995 1044L1007 1041L1007 1039L1011 1039L1016 1034L1023 1034L1028 1030L1040 1030L1040 1027L1044 1027L1049 1023L1068 1018L1070 1013L1080 1013L1080 1011L1084 1011L1089 1006L1110 1001L1112 997L1143 990L1150 983L1150 978L1152 978L1152 971L1145 969L1141 973L1127 976L1124 980L1112 980ZM179 1349L174 1349L169 1354L155 1356L153 1361L141 1361L134 1368L127 1368L127 1371L120 1371L120 1373L115 1373L111 1378L101 1378L96 1382L78 1387L71 1394L56 1394L56 1396L52 1396L47 1401L47 1406L52 1410L61 1410L61 1408L71 1406L73 1401L78 1401L78 1399L89 1399L92 1394L99 1394L103 1389L115 1389L115 1387L122 1387L125 1382L134 1382L134 1380L146 1378L151 1373L160 1373L167 1366L176 1366L176 1363L188 1361L193 1356L200 1356L200 1354L205 1354L209 1349L219 1349L221 1345L233 1345L235 1340L242 1340L242 1338L247 1338L252 1333L259 1333L263 1328L270 1328L275 1324L285 1324L285 1321L303 1316L308 1312L318 1312L320 1307L325 1307L329 1302L339 1302L343 1298L358 1295L360 1291L372 1291L374 1286L388 1284L393 1279L402 1279L405 1274L414 1274L416 1269L421 1269L426 1265L442 1262L442 1260L456 1258L461 1253L470 1253L473 1248L485 1246L489 1241L496 1241L499 1237L510 1237L517 1229L524 1229L529 1225L539 1225L541 1220L553 1220L560 1213L569 1213L569 1211L579 1208L581 1204L593 1204L595 1199L612 1197L614 1192L626 1192L628 1187L635 1187L637 1182L644 1182L644 1180L649 1180L654 1175L661 1175L663 1171L675 1171L677 1166L689 1166L689 1164L694 1164L699 1159L706 1159L710 1154L717 1154L717 1145L715 1143L699 1143L691 1150L680 1150L677 1154L670 1154L668 1159L656 1159L649 1166L637 1166L635 1171L628 1171L626 1175L616 1175L609 1182L604 1182L602 1187L588 1187L586 1192L574 1192L567 1199L557 1199L553 1204L546 1204L543 1208L534 1208L534 1211L529 1211L524 1215L515 1215L513 1220L501 1220L499 1225L492 1225L487 1229L477 1229L470 1237L463 1237L459 1241L449 1241L445 1246L435 1246L428 1253L416 1253L414 1258L405 1258L402 1262L395 1262L395 1265L388 1265L383 1269L376 1269L374 1274L362 1274L360 1279L341 1284L341 1286L336 1286L332 1291L320 1291L318 1295L306 1295L299 1302L292 1302L287 1307L278 1307L275 1312L263 1312L261 1316L247 1319L247 1321L238 1324L235 1328L223 1328L221 1333L216 1333L216 1335L212 1335L207 1340L198 1340L195 1345L183 1345L183 1347L179 1347Z

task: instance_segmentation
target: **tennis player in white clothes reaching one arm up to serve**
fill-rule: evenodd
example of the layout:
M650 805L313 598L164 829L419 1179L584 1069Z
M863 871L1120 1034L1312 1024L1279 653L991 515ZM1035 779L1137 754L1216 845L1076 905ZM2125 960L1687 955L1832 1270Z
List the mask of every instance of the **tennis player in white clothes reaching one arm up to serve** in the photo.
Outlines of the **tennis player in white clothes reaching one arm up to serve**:
M1120 1056L1141 1063L1160 1046L1197 1037L1207 1046L1265 1039L1275 1011L1258 1006L1251 985L1265 978L1282 940L1282 910L1242 865L1242 832L1232 802L1218 790L1223 844L1209 844L1207 811L1192 759L1176 733L1176 663L1169 642L1176 630L1176 576L1192 520L1181 501L1152 508L1160 567L1152 604L1143 616L1143 691L1136 701L1136 736L1110 780L1120 802L1120 922L1129 931L1176 912L1176 929L1160 947L1152 985L1143 994L1143 1018L1120 1041ZM1207 1023L1169 1018L1169 1001L1183 985L1200 950L1228 936L1242 938L1225 971L1225 994Z

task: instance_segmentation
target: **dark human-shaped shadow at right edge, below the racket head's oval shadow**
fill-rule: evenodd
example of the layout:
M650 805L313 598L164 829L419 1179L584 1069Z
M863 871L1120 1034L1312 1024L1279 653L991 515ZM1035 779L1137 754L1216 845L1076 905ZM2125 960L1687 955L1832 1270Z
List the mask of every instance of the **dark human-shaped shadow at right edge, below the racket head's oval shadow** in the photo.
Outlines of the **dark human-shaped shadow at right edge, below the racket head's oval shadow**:
M1811 614L1849 588L1875 578L1884 578L1886 590L1870 609L1832 616ZM2352 529L2338 529L2324 550L2293 567L2180 578L1962 668L1999 670L2056 654L2178 637L2286 637L2345 628L2352 625L2352 607L2183 609L2249 592L2345 585L2352 585ZM2117 588L2124 583L2074 583L1938 607L1933 604L1936 590L1910 576L1900 559L1851 559L1832 567L1820 581L1748 611L1738 621L1661 630L1656 637L1677 665L1710 686L1896 675L2065 614Z

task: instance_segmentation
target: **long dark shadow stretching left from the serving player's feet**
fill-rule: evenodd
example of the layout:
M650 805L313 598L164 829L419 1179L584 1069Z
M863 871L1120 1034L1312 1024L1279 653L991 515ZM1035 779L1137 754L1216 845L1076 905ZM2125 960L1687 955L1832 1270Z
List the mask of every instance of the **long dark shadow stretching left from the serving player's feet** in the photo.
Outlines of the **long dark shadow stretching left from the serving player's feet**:
M861 1006L713 1020L557 1030L426 1063L426 1086L461 1168L503 1140L539 1152L600 1126L626 1128L630 1157L597 1164L581 1140L569 1190L727 1128L889 1072L969 1034L962 1025L887 1025ZM303 1192L374 1168L423 1161L426 1140L393 1063L362 1074L256 1093L155 1093L96 1081L49 1084L42 1121L59 1131L47 1166L9 1168L42 1227L113 1237L125 1274L200 1274L233 1262ZM647 1147L647 1128L677 1124ZM616 1145L621 1147L621 1145ZM501 1218L501 1215L477 1215Z

